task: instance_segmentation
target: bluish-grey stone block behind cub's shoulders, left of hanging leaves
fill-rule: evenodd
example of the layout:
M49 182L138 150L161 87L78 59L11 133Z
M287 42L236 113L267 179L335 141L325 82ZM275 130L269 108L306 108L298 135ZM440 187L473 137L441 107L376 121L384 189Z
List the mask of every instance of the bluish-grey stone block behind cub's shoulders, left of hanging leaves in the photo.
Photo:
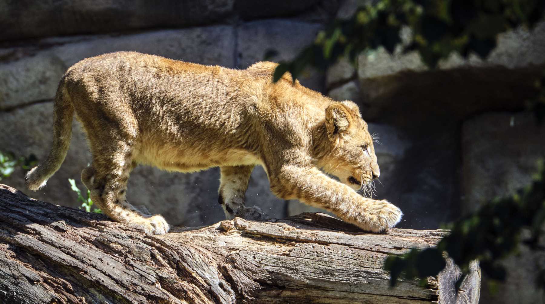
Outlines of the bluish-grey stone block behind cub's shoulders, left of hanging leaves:
M322 24L290 20L244 23L237 29L238 66L246 68L263 61L265 53L271 49L276 51L277 55L268 60L275 62L292 60L314 41L322 27ZM299 80L308 88L324 91L324 76L314 69L307 69L304 75L299 76Z

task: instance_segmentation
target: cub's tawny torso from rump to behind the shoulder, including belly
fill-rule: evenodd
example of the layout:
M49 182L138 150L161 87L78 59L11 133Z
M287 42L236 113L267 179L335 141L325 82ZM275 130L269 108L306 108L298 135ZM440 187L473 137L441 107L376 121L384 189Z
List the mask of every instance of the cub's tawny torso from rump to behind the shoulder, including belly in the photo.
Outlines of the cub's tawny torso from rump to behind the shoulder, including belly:
M138 138L141 151L135 157L142 163L187 171L196 163L228 161L229 149L244 150L252 136L247 98L239 98L238 85L231 80L241 73L118 52L80 61L63 81L91 141L92 134L107 133L106 126L130 131ZM183 153L179 147L186 147ZM209 150L215 151L209 159L187 159Z

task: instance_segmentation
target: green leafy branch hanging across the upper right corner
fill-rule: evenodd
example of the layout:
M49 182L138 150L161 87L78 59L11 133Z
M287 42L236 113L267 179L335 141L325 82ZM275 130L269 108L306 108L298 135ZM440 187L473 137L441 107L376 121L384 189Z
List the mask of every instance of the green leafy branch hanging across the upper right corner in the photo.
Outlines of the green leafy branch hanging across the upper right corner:
M286 72L293 79L307 66L325 70L338 58L352 61L379 46L393 53L417 51L431 68L457 52L485 59L496 46L496 36L518 26L532 28L543 17L542 0L379 0L358 8L348 20L336 20L319 32L314 43L292 61L276 67L273 81ZM411 29L410 44L401 45L400 31Z

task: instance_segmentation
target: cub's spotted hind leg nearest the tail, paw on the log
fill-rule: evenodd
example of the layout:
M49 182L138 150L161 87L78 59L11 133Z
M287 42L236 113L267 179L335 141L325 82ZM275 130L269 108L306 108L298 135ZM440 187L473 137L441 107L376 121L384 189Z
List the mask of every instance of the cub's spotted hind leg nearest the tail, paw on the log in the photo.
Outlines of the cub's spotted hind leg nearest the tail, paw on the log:
M125 199L131 162L131 147L119 142L113 151L93 156L93 164L83 169L81 179L91 199L113 220L150 234L165 234L169 226L161 215L143 214Z

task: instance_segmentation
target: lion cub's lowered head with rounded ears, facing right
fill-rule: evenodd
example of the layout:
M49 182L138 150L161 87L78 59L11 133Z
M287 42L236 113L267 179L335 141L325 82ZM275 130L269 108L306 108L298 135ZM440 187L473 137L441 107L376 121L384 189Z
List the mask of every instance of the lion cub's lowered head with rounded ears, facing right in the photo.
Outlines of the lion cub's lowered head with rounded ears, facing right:
M320 165L341 182L371 195L371 182L379 177L380 170L373 137L358 106L351 101L331 104L325 109L325 127L327 139L322 139L326 141L322 147L327 151L320 151Z

